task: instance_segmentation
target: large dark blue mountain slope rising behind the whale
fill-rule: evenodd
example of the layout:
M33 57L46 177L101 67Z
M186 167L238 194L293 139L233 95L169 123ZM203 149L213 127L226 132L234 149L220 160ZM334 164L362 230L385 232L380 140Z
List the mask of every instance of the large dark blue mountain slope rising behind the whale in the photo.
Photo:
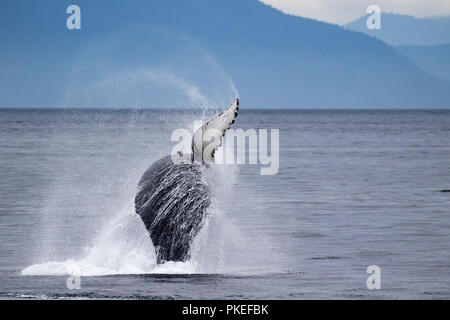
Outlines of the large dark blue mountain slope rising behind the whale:
M65 28L65 10L73 3L82 10L80 31ZM59 107L80 68L85 71L77 81L95 84L80 91L125 95L130 107L134 96L151 88L141 82L108 89L121 77L108 78L108 72L167 70L175 61L201 92L217 89L203 79L214 79L216 71L201 65L207 59L198 58L194 46L180 44L185 39L230 75L243 107L450 107L449 81L384 42L257 0L6 0L0 26L0 107ZM170 40L175 38L182 40ZM128 86L137 81L133 74L125 78ZM101 99L97 103L102 106Z

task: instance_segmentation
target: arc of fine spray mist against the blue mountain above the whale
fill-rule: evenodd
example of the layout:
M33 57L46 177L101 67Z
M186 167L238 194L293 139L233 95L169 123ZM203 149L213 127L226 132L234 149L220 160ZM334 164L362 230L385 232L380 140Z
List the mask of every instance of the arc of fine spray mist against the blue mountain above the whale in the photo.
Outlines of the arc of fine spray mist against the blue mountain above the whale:
M192 37L162 27L131 27L92 42L72 69L66 107L222 108L238 96Z

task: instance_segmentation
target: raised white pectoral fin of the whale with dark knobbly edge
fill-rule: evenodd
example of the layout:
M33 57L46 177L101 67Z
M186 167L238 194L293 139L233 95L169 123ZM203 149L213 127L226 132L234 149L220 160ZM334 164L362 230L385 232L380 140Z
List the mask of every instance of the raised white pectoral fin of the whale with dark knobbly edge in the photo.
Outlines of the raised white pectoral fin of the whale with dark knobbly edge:
M236 98L231 106L195 131L192 138L194 160L214 162L214 153L222 145L222 137L234 123L238 112L239 98Z

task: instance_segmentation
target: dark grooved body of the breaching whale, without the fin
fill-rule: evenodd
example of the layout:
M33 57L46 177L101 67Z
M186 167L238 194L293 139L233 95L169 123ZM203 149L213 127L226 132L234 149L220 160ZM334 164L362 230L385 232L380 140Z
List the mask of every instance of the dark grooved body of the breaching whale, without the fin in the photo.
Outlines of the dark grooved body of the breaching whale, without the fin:
M174 164L166 156L142 176L135 209L155 246L157 263L189 259L211 203L204 169L197 163Z

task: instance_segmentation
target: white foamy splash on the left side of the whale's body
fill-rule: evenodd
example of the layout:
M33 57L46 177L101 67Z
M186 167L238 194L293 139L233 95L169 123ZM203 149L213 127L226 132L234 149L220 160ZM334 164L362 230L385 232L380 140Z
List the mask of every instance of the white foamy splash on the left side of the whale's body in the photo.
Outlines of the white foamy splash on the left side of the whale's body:
M156 264L155 249L134 212L133 201L99 232L94 243L80 259L34 264L22 270L22 275L99 276L195 271L190 263Z

